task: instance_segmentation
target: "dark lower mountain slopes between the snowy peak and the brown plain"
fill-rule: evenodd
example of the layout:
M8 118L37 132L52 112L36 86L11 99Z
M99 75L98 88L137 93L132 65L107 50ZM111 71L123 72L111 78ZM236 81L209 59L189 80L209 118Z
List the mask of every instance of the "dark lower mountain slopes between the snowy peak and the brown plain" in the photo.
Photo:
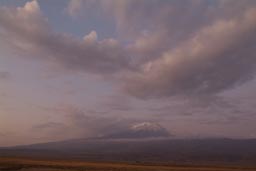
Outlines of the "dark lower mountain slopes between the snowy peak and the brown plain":
M256 139L77 139L0 149L1 156L175 164L255 164Z

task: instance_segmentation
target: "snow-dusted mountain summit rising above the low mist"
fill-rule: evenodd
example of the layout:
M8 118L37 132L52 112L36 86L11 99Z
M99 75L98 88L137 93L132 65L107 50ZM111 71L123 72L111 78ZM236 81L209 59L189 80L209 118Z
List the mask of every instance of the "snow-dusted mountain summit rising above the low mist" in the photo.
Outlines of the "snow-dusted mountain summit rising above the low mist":
M131 125L130 127L115 131L103 136L110 139L141 139L141 138L160 138L169 137L169 132L157 123L142 122Z

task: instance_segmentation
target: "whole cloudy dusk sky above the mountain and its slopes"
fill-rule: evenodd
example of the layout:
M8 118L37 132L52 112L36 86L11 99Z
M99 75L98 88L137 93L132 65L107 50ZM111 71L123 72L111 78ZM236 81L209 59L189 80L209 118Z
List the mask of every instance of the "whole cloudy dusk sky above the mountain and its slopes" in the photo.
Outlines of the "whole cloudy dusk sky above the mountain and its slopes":
M0 52L0 146L256 138L254 0L2 0Z

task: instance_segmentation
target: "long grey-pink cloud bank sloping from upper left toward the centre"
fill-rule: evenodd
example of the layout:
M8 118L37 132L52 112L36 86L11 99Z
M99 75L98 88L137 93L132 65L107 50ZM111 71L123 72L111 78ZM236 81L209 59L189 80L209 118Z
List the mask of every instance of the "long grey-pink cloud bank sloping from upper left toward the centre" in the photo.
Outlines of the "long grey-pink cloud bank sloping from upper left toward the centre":
M0 7L1 41L12 50L70 70L108 74L129 68L126 50L114 39L96 41L92 31L80 40L53 31L36 0L24 7ZM25 55L23 55L25 56Z

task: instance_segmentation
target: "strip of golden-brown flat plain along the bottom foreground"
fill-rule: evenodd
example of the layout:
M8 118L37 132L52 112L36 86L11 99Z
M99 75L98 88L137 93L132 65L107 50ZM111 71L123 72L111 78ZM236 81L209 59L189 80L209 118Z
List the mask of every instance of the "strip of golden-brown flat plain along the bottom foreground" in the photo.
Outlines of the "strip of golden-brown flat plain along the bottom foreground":
M256 171L256 167L177 166L0 158L0 171Z

